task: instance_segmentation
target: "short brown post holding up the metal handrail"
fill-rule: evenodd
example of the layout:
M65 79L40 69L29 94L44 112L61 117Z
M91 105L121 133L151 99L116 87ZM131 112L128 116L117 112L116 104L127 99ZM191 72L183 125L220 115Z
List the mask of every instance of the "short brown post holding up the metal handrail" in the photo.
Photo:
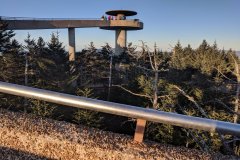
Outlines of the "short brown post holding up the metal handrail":
M146 120L137 119L137 125L136 125L135 134L134 134L134 141L136 142L143 141L145 126L146 126Z

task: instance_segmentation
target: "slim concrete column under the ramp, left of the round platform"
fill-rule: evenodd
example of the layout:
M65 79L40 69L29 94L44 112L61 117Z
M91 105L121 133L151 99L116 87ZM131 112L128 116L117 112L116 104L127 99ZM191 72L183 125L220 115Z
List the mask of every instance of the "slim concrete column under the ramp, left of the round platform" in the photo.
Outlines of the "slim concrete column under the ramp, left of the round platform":
M75 61L75 28L68 28L69 61Z

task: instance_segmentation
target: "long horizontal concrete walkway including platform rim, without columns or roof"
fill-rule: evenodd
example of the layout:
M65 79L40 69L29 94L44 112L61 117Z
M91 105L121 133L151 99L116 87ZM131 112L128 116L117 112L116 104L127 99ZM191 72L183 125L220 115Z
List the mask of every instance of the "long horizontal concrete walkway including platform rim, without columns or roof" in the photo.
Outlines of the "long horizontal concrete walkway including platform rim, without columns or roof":
M116 30L140 30L143 23L136 20L82 20L82 19L3 19L9 30L61 29L61 28L91 28ZM0 24L1 25L1 24Z

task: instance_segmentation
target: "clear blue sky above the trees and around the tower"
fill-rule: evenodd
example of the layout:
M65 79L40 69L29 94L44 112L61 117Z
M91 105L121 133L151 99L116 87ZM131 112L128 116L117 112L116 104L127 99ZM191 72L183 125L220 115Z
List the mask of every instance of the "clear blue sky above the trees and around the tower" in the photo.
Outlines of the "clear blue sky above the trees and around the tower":
M141 31L129 31L128 42L154 42L168 50L179 40L183 46L199 46L203 39L219 48L240 50L240 0L1 0L0 16L39 18L99 18L105 11L127 9L138 12L134 18L144 22ZM57 30L16 31L23 42L28 32L49 40ZM66 45L67 29L60 29L60 40ZM77 50L91 41L97 47L106 42L114 47L114 31L99 28L76 29ZM170 44L170 45L169 45ZM67 49L67 45L66 45Z

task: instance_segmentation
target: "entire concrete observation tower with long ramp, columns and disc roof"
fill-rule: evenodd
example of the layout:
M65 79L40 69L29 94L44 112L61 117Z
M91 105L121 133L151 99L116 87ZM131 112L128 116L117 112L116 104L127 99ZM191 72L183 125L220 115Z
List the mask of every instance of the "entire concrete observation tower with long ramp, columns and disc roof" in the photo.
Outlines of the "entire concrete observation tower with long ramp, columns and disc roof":
M9 30L35 30L35 29L68 29L69 40L69 61L75 61L75 28L92 28L116 30L115 54L119 55L124 51L127 43L127 30L143 29L143 23L138 19L126 19L127 16L134 16L135 11L112 10L107 15L114 16L114 19L71 19L71 18L27 18L27 17L1 17L8 24Z

